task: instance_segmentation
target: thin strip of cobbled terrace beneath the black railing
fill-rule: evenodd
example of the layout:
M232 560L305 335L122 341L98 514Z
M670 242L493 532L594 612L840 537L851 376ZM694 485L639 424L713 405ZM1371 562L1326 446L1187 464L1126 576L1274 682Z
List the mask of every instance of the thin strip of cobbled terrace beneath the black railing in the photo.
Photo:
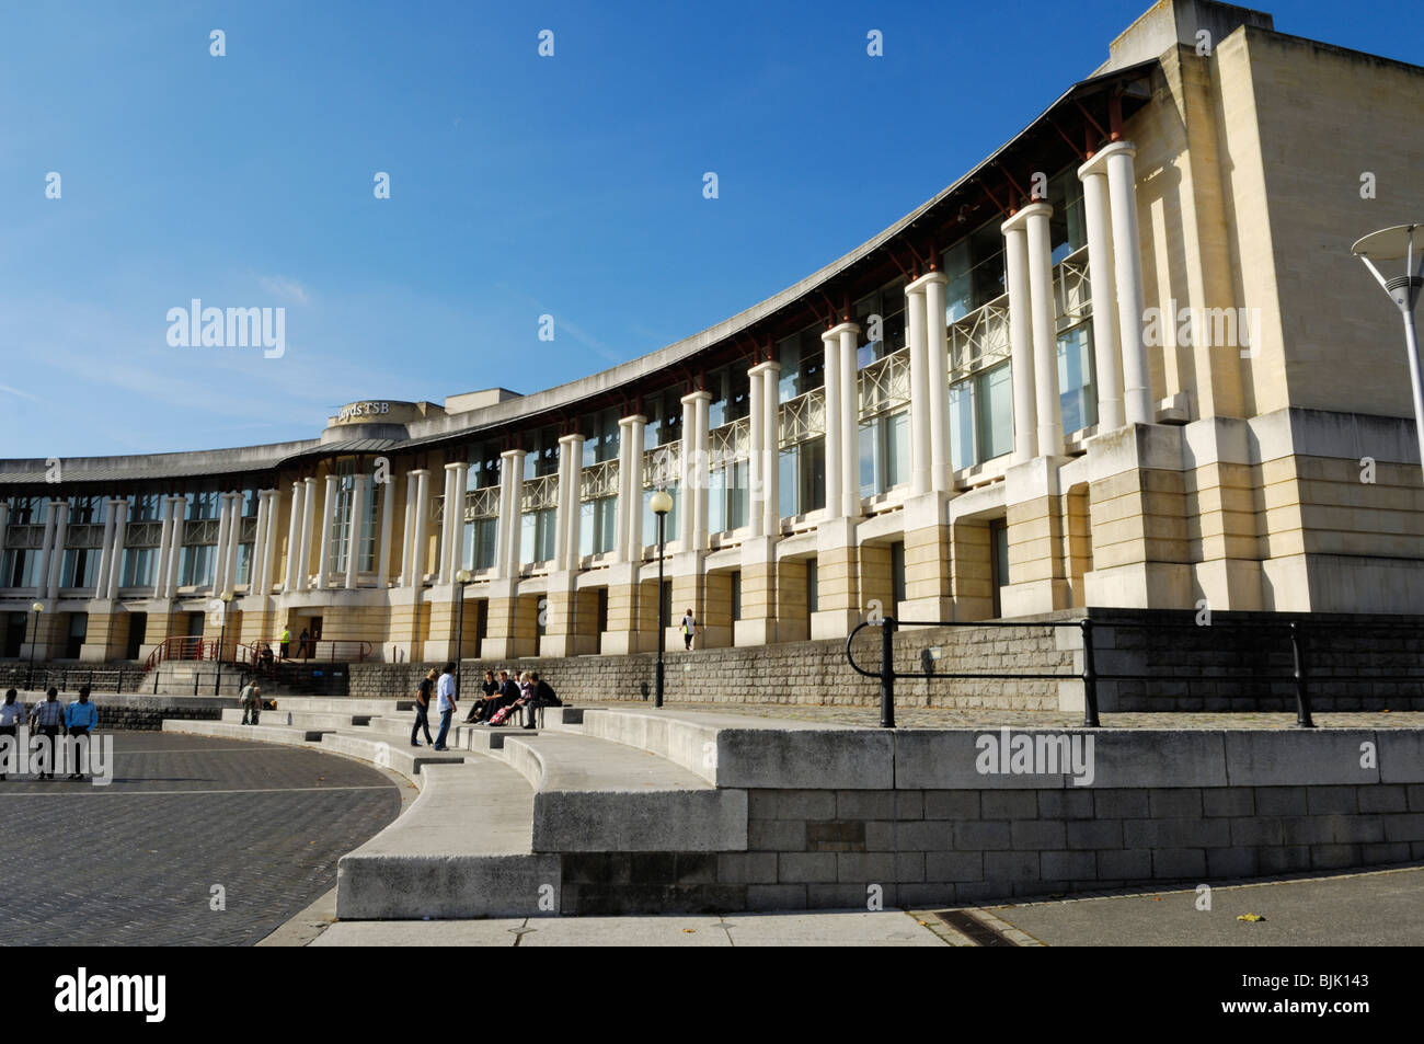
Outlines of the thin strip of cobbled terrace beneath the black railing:
M651 708L652 702L585 702L577 706ZM782 718L787 721L827 722L834 725L880 724L879 706L827 706L823 704L666 704L669 711L708 711L739 714L749 718ZM1081 728L1082 714L1059 711L963 711L940 706L896 706L896 726L903 729L997 729L1014 728ZM1109 729L1286 729L1294 728L1294 714L1232 712L1206 714L1192 711L1159 711L1098 715ZM1317 728L1334 729L1424 729L1424 714L1417 711L1327 711L1314 715Z

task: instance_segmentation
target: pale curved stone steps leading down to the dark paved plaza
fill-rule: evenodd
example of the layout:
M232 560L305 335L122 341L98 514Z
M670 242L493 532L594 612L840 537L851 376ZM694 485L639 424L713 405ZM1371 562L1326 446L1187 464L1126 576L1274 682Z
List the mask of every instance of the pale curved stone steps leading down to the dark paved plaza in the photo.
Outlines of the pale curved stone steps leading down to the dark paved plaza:
M286 696L261 725L225 708L221 721L169 719L164 731L313 746L420 789L394 823L342 857L337 916L347 920L575 913L580 889L562 879L574 853L622 860L628 880L618 883L662 909L651 896L659 882L632 880L629 856L659 853L665 865L746 850L748 792L719 785L715 728L545 708L537 729L451 725L450 751L437 752L410 746L410 701ZM684 906L701 902L696 893L678 890Z

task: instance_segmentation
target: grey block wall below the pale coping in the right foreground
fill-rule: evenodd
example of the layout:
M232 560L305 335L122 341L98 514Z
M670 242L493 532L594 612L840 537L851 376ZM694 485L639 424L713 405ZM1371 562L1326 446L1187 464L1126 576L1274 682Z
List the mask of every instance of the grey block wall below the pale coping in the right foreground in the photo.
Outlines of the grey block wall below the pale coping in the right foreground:
M562 856L562 912L926 909L1424 859L1420 783L748 796L746 852Z

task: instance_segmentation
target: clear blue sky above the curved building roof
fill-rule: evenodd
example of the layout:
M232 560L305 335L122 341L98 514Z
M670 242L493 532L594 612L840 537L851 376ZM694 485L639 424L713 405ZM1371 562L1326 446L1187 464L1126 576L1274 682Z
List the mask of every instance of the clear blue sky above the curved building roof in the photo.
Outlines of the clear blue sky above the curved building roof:
M634 359L921 204L1148 6L9 4L0 457L309 439ZM1259 6L1424 61L1397 3ZM192 298L285 308L285 355L169 346Z

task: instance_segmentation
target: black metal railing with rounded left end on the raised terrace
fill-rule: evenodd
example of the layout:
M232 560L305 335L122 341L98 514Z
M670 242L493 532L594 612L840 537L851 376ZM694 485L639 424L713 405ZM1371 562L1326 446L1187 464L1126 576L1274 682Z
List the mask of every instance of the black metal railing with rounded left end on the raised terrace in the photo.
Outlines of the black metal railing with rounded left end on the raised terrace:
M856 635L867 627L880 627L880 669L867 671L856 662L852 652L852 644ZM1081 671L931 671L928 664L926 664L924 671L899 671L894 667L894 634L901 627L946 627L946 628L1030 628L1030 630L1064 630L1075 628L1082 634L1082 669ZM1235 674L1219 674L1212 675L1212 681L1250 681L1250 682L1282 682L1292 684L1294 688L1294 702L1296 702L1296 726L1297 728L1314 728L1314 718L1312 715L1310 706L1310 674L1309 674L1309 638L1307 632L1319 628L1327 630L1330 632L1377 632L1377 631L1413 631L1420 634L1421 628L1418 624L1350 624L1340 621L1312 624L1310 621L1290 620L1280 622L1266 622L1266 621L1218 621L1212 624L1196 624L1196 622L1176 622L1176 621L1139 621L1139 620L1102 620L1095 621L1092 618L1084 620L1040 620L1040 621L1001 621L1001 620L981 620L981 621L953 621L953 620L933 620L933 621L896 621L894 618L884 618L880 622L867 621L856 627L850 635L846 638L846 662L857 672L866 678L876 678L880 682L880 726L894 728L894 684L897 679L909 678L941 678L947 681L973 679L981 678L987 681L1034 681L1034 679L1079 679L1082 682L1084 692L1084 728L1098 728L1098 682L1161 682L1163 681L1162 672L1156 674L1125 674L1125 672L1109 672L1099 674L1096 669L1096 641L1094 638L1094 630L1099 627L1109 627L1114 631L1119 630L1142 630L1142 631L1196 631L1196 632L1223 632L1223 631L1247 631L1247 632L1286 632L1290 641L1290 659L1292 669L1289 674L1280 672L1263 672L1263 671L1240 671ZM1257 647L1259 648L1259 647ZM1333 674L1329 677L1331 682L1384 682L1384 684L1415 684L1424 685L1424 671L1420 674L1358 674L1358 675L1340 675Z

